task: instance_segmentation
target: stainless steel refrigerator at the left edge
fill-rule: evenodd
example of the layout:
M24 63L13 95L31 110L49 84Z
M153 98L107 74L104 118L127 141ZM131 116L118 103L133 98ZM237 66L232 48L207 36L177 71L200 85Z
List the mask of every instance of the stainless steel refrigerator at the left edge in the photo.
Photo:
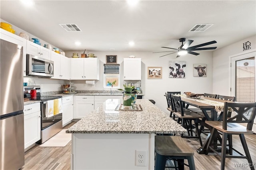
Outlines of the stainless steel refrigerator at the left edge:
M0 169L24 165L23 47L0 40Z

